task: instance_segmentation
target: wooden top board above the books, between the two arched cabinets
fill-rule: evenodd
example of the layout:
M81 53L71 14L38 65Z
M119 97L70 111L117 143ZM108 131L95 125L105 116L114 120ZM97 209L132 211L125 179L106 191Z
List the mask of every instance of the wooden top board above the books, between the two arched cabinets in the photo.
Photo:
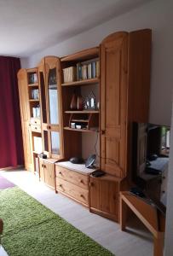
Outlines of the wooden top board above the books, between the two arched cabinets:
M73 55L67 55L61 58L61 61L84 61L99 56L99 47L81 50Z

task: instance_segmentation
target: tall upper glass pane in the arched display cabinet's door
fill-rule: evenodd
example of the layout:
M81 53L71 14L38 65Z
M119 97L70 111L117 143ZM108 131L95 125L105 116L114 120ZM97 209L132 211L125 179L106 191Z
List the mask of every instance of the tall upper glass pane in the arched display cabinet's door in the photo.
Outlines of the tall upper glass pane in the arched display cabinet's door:
M56 68L49 69L48 92L49 92L49 122L50 122L50 125L58 125L59 114L58 114L58 90L57 90L57 82L56 82Z

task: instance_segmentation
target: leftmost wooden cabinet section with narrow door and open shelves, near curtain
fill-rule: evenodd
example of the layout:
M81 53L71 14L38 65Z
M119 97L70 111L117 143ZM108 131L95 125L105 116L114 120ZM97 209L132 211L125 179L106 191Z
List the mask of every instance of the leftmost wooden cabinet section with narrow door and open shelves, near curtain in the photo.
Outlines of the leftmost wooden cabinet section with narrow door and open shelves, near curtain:
M37 68L20 69L18 73L20 113L23 134L24 157L26 170L37 171L37 154L42 151L40 125L40 97L37 81ZM37 144L39 137L41 143ZM40 147L41 145L41 147ZM39 148L39 152L37 149Z

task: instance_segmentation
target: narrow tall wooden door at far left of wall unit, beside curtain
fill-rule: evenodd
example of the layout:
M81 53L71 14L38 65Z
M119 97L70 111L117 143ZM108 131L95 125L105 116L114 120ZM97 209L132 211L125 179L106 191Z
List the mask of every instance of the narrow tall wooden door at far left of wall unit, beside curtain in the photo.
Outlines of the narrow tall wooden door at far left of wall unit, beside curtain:
M26 170L33 170L32 160L32 133L30 129L30 110L27 88L26 69L20 69L18 73L18 88L20 96L20 117L23 137L24 159Z

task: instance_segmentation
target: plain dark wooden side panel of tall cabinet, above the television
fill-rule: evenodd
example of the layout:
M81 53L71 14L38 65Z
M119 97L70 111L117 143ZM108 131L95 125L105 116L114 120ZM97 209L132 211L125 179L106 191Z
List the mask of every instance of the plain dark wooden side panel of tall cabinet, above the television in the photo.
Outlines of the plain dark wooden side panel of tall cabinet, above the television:
M149 110L152 31L130 32L129 119L147 123Z

